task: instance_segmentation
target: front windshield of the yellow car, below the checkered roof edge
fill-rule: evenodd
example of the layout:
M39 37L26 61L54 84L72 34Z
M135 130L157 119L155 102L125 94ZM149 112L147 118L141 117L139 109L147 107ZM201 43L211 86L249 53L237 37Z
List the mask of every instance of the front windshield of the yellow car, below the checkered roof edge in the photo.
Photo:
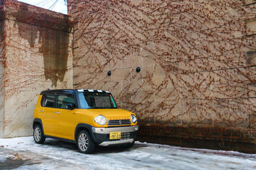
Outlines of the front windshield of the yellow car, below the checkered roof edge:
M79 103L82 109L117 108L111 94L102 92L79 92Z

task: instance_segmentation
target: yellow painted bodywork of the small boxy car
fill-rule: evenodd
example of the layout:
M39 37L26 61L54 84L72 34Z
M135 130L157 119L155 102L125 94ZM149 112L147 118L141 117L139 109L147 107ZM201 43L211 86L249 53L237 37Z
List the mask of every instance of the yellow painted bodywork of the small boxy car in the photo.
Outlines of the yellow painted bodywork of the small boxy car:
M61 90L52 90L53 95L56 96L58 94L61 94ZM65 94L71 93L76 96L77 92L72 90L63 90ZM106 128L106 127L131 127L137 124L132 123L129 125L108 125L108 120L131 120L131 115L135 115L131 111L123 110L120 108L88 108L88 109L80 109L80 108L74 108L74 109L63 109L63 108L49 108L44 107L41 105L42 96L44 94L51 94L50 91L44 91L41 92L40 96L38 97L38 101L36 103L35 113L34 117L35 120L40 120L40 124L42 125L42 129L44 131L44 135L46 137L51 138L60 138L60 139L67 139L70 141L76 142L76 134L77 129L79 128L86 128L90 132L90 134L95 139L94 141L99 143L102 142L103 139L108 139L106 135L101 135L96 132L92 132L93 127L94 128ZM48 97L45 98L49 99ZM52 99L52 98L51 98ZM53 100L52 100L53 101ZM79 104L77 104L79 106ZM99 125L94 121L94 118L103 115L106 117L106 124ZM38 121L37 121L38 122ZM131 132L131 137L136 137L136 132ZM95 137L96 136L96 137ZM100 139L96 139L100 138ZM104 142L104 141L103 141ZM108 141L109 142L109 141Z

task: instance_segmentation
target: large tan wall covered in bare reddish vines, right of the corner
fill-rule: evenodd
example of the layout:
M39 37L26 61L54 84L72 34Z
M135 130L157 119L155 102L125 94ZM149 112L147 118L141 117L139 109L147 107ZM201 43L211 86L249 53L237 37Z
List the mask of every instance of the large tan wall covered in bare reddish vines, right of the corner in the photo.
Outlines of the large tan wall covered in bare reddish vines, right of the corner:
M143 140L255 143L255 9L243 0L70 0L74 87L111 91L138 115Z

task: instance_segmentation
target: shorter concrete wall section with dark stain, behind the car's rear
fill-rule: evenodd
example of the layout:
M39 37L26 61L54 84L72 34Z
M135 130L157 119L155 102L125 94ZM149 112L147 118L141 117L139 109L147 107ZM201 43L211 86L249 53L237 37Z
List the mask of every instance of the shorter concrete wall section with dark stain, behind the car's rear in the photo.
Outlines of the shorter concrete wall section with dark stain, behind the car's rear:
M1 13L6 15L2 136L28 136L40 92L73 87L70 17L17 1L5 1Z

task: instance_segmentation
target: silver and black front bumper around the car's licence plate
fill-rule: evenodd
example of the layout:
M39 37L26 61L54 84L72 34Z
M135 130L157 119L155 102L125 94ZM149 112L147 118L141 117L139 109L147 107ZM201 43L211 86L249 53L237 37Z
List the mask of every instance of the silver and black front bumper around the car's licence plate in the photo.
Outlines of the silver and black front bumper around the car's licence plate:
M139 126L128 127L92 127L93 141L100 146L121 145L132 143L137 136ZM109 139L109 132L121 132L121 139Z

